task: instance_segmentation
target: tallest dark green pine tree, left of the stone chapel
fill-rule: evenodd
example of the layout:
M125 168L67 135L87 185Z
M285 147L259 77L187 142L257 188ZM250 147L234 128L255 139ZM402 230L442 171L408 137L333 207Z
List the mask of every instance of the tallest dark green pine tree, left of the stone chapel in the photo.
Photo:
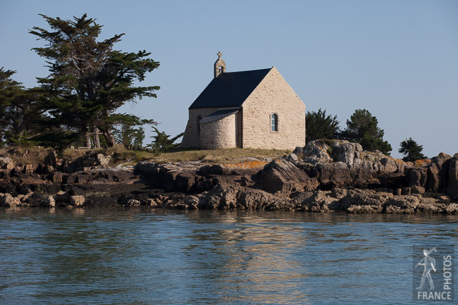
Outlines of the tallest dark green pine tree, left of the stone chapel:
M41 139L69 144L100 130L107 144L113 146L113 124L125 119L119 114L116 120L112 118L116 109L127 101L156 97L159 87L135 87L134 82L143 81L159 62L148 58L147 51L113 50L124 34L98 42L102 25L86 14L73 20L42 17L51 30L33 27L30 33L46 42L34 50L49 64L48 77L38 80L47 94L47 123L56 130L49 130L47 138Z

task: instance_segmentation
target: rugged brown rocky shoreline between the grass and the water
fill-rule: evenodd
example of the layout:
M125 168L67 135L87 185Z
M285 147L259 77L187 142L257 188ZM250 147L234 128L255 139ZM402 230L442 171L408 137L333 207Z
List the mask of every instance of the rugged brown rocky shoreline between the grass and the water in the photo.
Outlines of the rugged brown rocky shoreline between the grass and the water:
M0 206L458 214L458 154L409 163L355 143L314 141L273 161L110 168L109 159L51 153L34 168L0 157Z

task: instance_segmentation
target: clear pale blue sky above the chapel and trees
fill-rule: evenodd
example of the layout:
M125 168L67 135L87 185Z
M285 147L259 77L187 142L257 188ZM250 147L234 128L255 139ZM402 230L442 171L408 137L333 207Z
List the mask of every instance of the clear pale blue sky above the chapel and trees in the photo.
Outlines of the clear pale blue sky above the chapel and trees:
M458 1L26 1L0 0L0 67L26 87L44 77L28 34L38 14L87 13L101 38L125 33L122 51L147 50L161 62L144 85L157 99L121 111L185 130L187 107L213 77L216 53L228 71L276 66L307 106L338 115L357 108L378 118L392 156L407 137L429 157L458 152ZM151 133L149 133L151 135ZM148 139L149 142L149 139Z

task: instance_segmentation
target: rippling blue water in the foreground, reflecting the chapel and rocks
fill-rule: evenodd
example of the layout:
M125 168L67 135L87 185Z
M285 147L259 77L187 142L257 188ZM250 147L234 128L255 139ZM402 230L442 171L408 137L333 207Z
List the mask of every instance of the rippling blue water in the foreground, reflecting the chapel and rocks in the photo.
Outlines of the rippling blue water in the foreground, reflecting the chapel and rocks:
M411 304L457 216L0 210L0 304Z

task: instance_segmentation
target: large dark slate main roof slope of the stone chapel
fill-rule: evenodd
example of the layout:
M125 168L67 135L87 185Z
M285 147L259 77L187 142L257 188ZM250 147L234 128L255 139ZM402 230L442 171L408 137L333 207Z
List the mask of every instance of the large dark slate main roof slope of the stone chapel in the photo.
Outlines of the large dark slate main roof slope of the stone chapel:
M241 106L271 69L221 73L211 80L190 109Z

